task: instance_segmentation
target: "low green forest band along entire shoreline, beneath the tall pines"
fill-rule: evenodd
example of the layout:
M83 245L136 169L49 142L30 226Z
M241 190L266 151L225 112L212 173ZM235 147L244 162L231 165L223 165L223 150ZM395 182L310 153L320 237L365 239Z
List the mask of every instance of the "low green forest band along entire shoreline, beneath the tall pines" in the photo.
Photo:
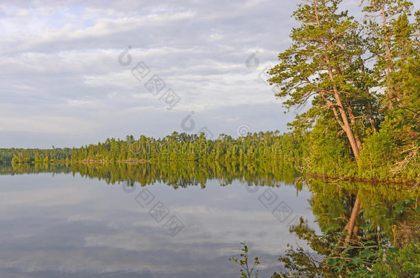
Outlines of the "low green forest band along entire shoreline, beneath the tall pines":
M209 140L201 135L173 132L154 139L132 135L125 140L107 139L103 143L81 148L55 150L4 150L5 161L12 163L105 163L105 162L162 162L162 161L242 161L255 163L273 161L285 168L295 168L300 173L312 173L342 178L375 179L382 181L419 181L418 157L412 157L400 167L403 155L388 150L369 153L368 165L355 161L345 140L337 137L317 137L317 129L296 135L289 132L260 132L234 139L220 135ZM328 143L328 144L327 144ZM13 158L10 157L13 155ZM386 159L391 157L392 159ZM364 157L362 156L364 159ZM386 159L386 160L384 160ZM366 162L365 162L366 163ZM397 167L400 167L398 170ZM397 171L398 170L398 171Z

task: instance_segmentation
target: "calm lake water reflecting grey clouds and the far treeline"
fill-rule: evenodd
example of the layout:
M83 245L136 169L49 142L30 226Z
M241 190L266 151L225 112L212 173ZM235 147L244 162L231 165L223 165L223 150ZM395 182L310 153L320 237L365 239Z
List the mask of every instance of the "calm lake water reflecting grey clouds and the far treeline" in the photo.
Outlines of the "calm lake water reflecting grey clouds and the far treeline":
M292 224L302 217L319 233L326 215L350 214L357 194L296 184L278 167L1 167L0 277L238 277L228 258L242 241L270 277L287 244L307 246ZM370 185L359 194L362 203L404 198Z

